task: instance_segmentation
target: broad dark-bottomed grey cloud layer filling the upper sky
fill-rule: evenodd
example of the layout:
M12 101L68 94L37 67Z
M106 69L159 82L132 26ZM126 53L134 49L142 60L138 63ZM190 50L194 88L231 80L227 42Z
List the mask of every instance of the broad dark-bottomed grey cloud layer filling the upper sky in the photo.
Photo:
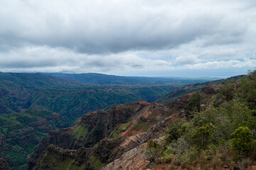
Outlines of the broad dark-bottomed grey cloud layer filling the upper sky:
M235 1L233 6L218 5L220 2L213 1L206 4L203 1L6 0L1 7L0 33L9 39L10 47L23 42L84 53L164 49L196 38L207 39L205 45L240 42L250 25L242 22L246 15L240 9L247 4ZM233 18L224 9L232 10ZM237 24L237 20L245 24Z

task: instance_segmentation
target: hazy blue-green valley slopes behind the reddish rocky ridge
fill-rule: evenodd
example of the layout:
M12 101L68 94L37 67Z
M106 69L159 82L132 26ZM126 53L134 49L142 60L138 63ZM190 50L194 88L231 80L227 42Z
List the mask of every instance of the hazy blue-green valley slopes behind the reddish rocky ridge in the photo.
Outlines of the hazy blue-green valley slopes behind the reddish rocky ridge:
M155 101L180 86L80 84L42 74L0 73L0 157L21 169L49 130L70 127L99 108Z

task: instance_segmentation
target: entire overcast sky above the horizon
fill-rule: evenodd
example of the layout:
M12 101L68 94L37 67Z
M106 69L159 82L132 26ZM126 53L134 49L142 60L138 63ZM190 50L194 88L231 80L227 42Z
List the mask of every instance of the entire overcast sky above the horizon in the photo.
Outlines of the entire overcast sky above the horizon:
M256 69L255 0L1 0L0 72L229 77Z

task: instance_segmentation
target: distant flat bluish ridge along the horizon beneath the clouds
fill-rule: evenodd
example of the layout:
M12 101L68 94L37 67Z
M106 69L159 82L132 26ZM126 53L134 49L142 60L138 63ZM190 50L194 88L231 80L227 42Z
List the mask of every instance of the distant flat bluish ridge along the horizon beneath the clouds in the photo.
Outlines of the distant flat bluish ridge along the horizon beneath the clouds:
M142 84L142 85L156 85L156 84L193 84L206 82L218 78L178 78L178 77L120 77L107 74L97 73L82 73L82 74L63 74L63 73L42 73L52 77L60 77L71 79L87 84Z

